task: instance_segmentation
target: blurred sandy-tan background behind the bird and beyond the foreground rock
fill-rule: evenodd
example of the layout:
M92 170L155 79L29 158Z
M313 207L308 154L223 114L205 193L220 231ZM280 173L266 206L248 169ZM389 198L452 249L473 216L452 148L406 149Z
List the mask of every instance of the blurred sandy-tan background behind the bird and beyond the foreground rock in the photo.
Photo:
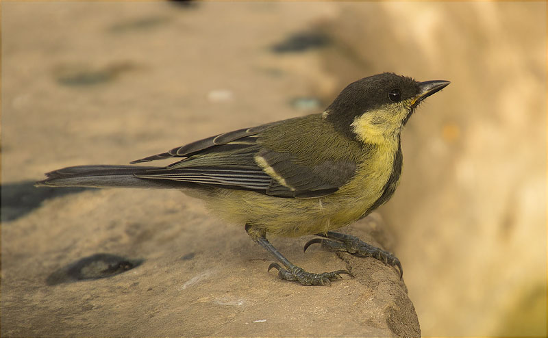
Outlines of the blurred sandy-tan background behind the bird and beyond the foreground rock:
M401 184L379 209L422 334L544 336L546 13L507 1L4 2L3 194L63 166L318 113L376 73L449 80L403 131ZM27 222L6 210L3 270L15 246L44 245L6 243L6 224Z

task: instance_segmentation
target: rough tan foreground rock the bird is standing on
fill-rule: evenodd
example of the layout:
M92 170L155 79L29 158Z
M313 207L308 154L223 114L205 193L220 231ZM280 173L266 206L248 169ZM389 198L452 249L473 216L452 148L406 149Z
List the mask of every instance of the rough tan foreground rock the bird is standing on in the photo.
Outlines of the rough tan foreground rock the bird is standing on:
M179 195L152 194L159 202L145 207L149 192L82 193L51 200L25 220L5 226L3 335L420 335L395 269L348 254L339 254L341 260L319 246L304 254L310 237L275 239L284 254L309 271L348 268L356 275L331 287L282 281L266 272L273 260L242 227L209 218ZM185 207L160 202L170 197ZM87 203L94 206L75 212ZM141 205L123 207L126 203ZM51 209L58 208L68 211L52 220ZM368 234L377 226L383 225L369 218L351 233L376 243ZM53 271L97 252L145 261L108 278L47 285Z

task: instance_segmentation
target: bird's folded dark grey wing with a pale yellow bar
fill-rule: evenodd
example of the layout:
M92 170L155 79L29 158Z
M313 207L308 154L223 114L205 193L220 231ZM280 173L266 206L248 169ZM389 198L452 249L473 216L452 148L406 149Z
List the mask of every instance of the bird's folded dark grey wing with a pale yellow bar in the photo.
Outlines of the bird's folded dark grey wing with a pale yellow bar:
M260 133L277 123L216 135L134 161L185 157L165 168L140 172L136 177L312 198L336 192L353 176L353 162L326 160L307 165L291 153L266 148L260 142Z

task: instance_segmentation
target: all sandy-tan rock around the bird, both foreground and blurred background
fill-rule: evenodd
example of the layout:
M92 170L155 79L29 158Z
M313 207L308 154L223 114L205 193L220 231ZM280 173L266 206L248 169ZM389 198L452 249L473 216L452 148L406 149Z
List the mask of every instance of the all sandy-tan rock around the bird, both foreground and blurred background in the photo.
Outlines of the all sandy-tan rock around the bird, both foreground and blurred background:
M2 335L546 334L545 3L8 2L1 19ZM309 238L274 244L357 278L279 281L179 192L28 183L321 112L382 71L451 81L403 132L393 199L345 230L393 250L407 289L376 261L302 254ZM99 252L143 261L47 285Z

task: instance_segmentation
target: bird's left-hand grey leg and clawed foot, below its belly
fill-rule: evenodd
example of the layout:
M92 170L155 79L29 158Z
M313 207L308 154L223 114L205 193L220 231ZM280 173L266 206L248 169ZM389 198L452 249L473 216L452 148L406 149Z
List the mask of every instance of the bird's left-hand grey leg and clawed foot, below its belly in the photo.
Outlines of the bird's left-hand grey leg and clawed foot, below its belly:
M245 231L251 235L252 226L246 225ZM253 236L252 236L253 238ZM333 272L323 272L321 274L313 274L311 272L306 272L303 268L299 268L297 265L291 263L282 255L272 244L266 239L266 235L262 234L258 237L253 238L255 242L260 244L266 251L270 252L276 259L284 265L285 269L282 268L278 263L271 263L269 265L269 271L272 268L278 270L279 278L285 279L286 281L298 281L302 285L331 285L331 281L336 281L337 279L342 279L340 274L349 274L347 270L337 270Z

